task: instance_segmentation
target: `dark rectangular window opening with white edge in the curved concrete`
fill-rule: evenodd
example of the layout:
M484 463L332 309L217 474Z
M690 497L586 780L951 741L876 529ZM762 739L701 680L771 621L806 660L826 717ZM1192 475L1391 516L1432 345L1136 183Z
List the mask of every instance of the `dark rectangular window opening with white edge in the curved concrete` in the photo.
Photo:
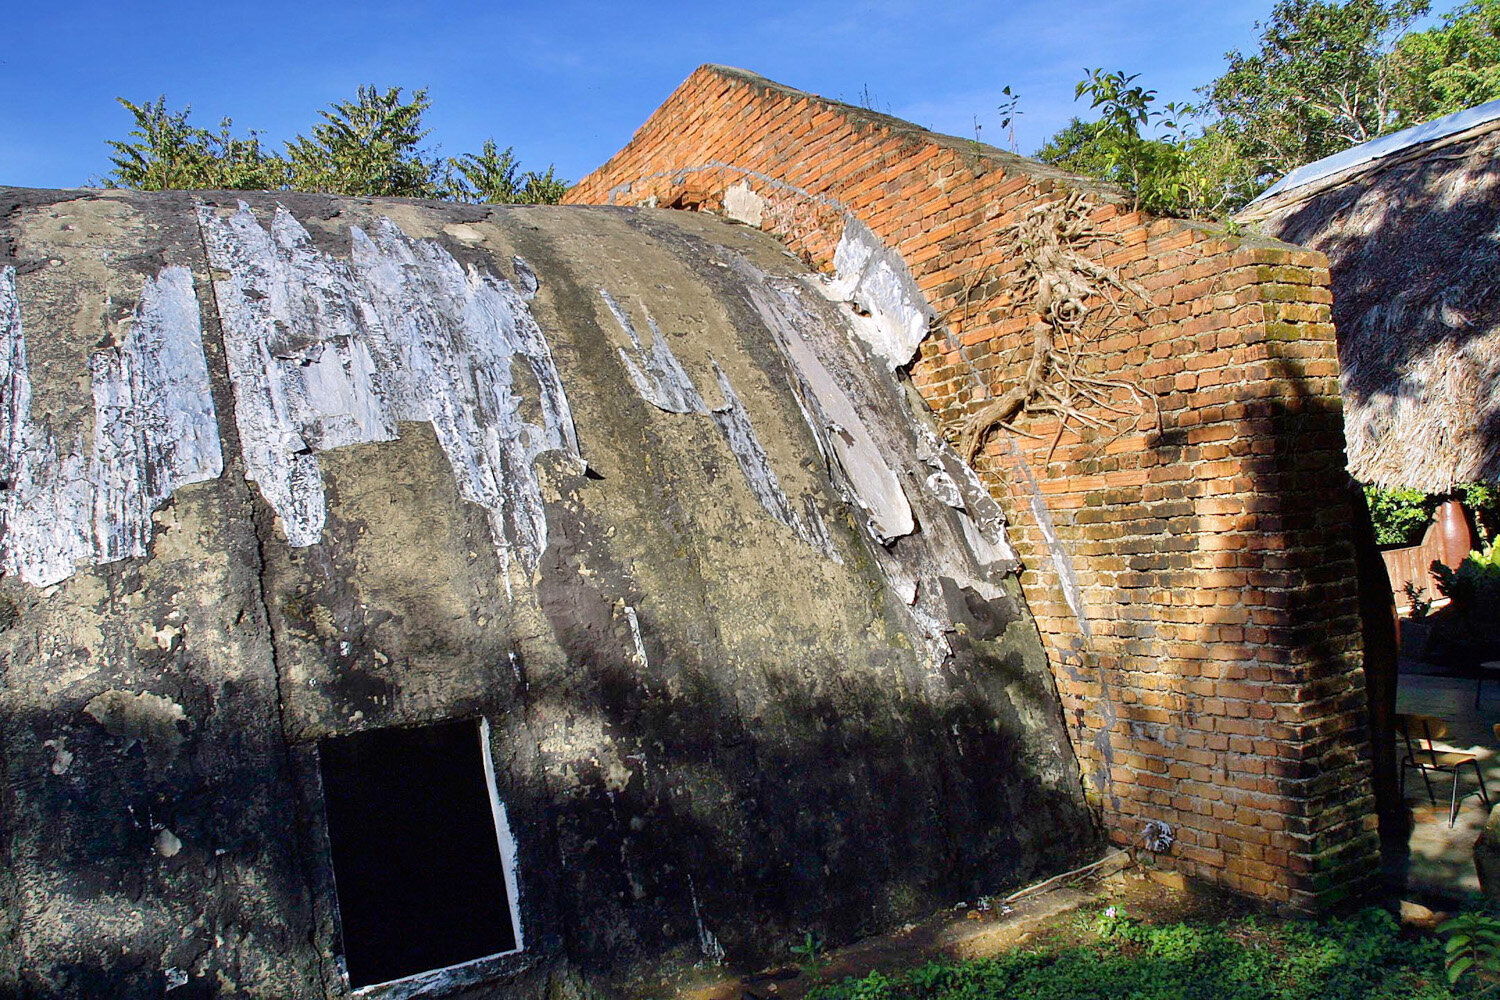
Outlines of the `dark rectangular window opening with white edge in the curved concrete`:
M351 987L520 948L483 720L330 736L318 759Z

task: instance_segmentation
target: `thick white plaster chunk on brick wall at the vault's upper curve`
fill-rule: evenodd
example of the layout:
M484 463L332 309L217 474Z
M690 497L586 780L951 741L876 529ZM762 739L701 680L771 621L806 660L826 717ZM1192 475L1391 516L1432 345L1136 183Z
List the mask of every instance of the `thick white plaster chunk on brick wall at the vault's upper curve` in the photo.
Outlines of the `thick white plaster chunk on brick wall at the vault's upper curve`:
M844 217L828 294L870 313L856 333L892 370L912 360L934 316L902 255L854 216Z

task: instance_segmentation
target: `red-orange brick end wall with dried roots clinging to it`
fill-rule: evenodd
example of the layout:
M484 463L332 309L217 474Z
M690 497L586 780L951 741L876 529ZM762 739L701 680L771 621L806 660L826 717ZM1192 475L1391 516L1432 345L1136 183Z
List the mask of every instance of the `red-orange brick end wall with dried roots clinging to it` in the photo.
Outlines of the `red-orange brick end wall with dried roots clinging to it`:
M939 322L909 366L939 424L1004 393L1036 319L998 246L1082 190L1107 267L1149 306L1089 330L1083 370L1130 382L1028 417L976 465L1005 505L1090 799L1125 844L1150 819L1162 864L1312 910L1374 876L1338 355L1322 253L1130 211L1118 193L990 147L705 66L576 204L720 210L828 268L848 216L894 247ZM1096 315L1104 316L1106 310ZM1160 415L1158 415L1160 412ZM1053 448L1053 441L1058 441Z

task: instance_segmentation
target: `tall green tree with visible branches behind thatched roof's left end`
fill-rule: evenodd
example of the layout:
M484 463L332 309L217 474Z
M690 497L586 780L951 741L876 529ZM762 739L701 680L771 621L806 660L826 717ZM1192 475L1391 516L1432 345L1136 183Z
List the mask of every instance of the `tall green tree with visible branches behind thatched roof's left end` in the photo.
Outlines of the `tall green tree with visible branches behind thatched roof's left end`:
M1232 51L1203 87L1218 126L1257 175L1287 171L1400 126L1389 54L1426 0L1280 0L1260 48Z

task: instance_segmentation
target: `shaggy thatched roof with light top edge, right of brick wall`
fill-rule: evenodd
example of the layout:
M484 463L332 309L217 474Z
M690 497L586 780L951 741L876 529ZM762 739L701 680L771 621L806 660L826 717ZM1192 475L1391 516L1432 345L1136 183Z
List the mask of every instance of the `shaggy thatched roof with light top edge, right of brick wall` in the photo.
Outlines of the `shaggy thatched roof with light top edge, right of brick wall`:
M1497 150L1491 102L1310 163L1239 216L1328 253L1364 483L1500 481Z

